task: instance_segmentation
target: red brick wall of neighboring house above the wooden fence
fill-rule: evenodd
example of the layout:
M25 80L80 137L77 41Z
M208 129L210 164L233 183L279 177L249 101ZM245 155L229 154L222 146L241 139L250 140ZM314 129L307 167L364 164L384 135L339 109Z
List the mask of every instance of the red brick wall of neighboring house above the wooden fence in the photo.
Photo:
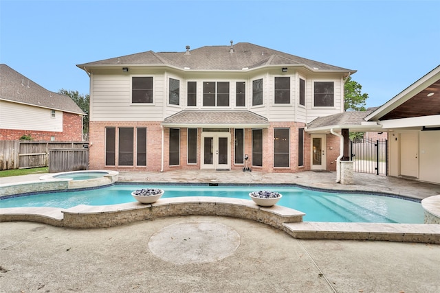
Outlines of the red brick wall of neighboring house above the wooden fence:
M0 140L16 141L23 135L30 135L34 141L83 141L83 117L63 112L63 132L0 129Z

